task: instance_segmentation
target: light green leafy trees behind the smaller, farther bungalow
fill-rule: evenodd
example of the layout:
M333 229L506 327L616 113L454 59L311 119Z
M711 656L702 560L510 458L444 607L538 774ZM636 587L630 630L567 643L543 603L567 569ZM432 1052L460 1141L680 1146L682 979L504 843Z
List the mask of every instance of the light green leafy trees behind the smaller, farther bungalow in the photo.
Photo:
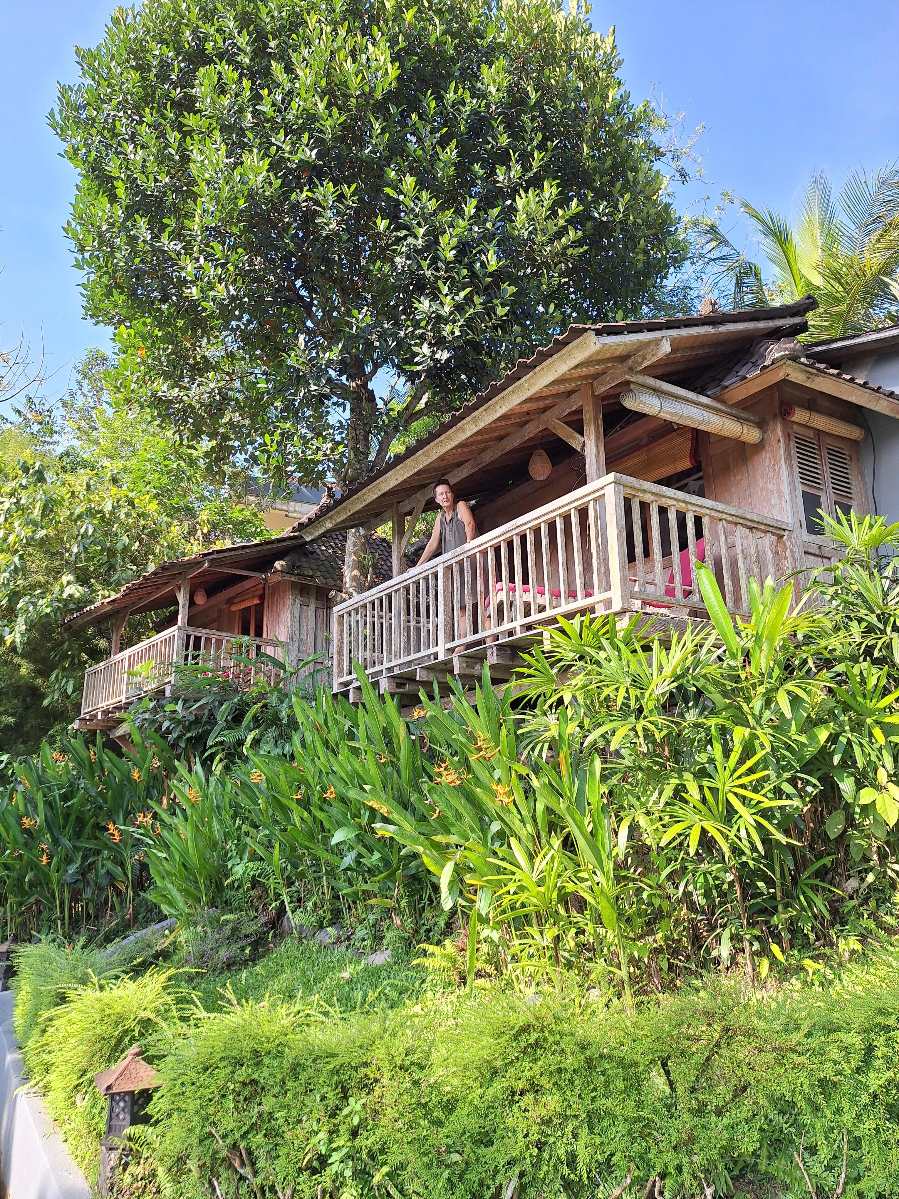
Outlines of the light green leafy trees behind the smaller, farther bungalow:
M221 483L203 446L110 400L108 368L91 351L59 409L28 423L32 404L0 427L0 749L22 752L71 717L84 668L109 652L102 632L61 629L66 616L161 561L267 536L240 478ZM47 698L44 717L23 723L23 697L32 717Z

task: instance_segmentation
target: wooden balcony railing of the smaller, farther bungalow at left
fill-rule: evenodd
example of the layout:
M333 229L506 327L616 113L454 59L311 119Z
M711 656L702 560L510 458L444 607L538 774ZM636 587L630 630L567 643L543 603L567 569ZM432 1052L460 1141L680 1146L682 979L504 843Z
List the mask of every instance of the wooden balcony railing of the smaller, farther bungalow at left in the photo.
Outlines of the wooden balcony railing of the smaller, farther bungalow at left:
M277 641L219 633L210 628L181 625L123 650L91 667L84 676L82 718L126 706L168 686L177 667L229 677L248 687L259 679L277 682L280 670L259 658L282 658ZM249 661L248 661L249 659ZM259 661L257 661L259 659Z

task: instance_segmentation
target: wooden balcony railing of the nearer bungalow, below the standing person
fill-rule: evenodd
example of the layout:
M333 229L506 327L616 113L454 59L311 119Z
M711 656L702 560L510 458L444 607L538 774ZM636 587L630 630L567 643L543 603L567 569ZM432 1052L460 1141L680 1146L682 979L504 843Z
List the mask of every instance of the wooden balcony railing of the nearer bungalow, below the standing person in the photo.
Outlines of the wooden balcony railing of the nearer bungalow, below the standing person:
M336 691L446 662L457 650L526 640L560 616L702 616L696 561L728 608L748 582L792 570L791 530L623 475L607 475L334 608Z

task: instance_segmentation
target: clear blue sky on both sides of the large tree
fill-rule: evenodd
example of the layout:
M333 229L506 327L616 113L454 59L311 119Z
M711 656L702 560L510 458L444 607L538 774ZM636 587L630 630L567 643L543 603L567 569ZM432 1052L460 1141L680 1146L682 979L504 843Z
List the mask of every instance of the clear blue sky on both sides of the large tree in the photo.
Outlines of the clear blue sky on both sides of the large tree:
M52 390L107 330L82 318L62 235L74 173L46 115L56 80L74 78L76 43L102 37L113 0L0 0L0 347L43 336ZM899 157L897 0L599 0L616 26L635 100L705 125L705 181L681 206L722 188L789 209L814 168L845 171ZM737 230L740 237L740 230ZM750 247L752 248L752 247Z

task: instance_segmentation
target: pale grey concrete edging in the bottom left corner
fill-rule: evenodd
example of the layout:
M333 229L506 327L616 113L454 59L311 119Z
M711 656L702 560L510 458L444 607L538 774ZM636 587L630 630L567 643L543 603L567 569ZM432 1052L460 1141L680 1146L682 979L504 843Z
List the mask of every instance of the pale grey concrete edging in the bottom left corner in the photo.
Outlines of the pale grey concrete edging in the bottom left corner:
M0 1181L6 1199L91 1199L88 1181L36 1095L19 1090L13 995L0 994Z

